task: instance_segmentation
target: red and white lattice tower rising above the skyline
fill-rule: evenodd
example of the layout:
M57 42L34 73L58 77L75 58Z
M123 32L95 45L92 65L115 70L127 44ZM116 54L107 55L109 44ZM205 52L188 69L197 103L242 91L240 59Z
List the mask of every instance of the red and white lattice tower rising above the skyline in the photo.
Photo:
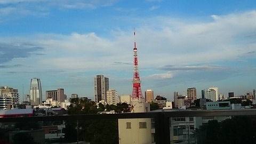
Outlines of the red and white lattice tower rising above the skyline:
M140 87L140 75L139 75L139 69L138 69L138 55L137 55L137 47L135 42L135 30L134 30L134 48L133 48L133 81L132 81L132 99L134 102L132 102L134 105L135 103L141 103L145 102L141 87Z

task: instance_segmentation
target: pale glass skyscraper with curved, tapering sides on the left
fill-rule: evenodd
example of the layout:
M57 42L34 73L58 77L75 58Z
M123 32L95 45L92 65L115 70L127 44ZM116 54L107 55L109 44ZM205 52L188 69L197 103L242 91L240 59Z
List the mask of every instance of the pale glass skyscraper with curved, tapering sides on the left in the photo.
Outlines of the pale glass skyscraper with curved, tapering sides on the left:
M32 78L30 81L29 101L30 105L42 104L42 86L39 78Z

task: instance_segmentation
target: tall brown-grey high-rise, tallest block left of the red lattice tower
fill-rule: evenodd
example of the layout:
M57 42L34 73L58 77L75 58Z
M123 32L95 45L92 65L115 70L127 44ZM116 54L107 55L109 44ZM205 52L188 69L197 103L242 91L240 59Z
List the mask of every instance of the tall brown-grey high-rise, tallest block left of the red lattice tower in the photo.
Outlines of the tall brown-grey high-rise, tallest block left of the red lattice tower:
M106 103L106 94L109 90L108 78L103 75L94 77L94 101Z

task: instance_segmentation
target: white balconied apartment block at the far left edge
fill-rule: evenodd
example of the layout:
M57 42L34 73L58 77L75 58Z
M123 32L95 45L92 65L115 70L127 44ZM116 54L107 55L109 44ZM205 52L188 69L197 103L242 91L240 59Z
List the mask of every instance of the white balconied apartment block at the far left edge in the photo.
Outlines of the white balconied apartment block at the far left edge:
M0 87L0 109L7 109L8 105L16 105L19 102L19 93L12 87Z

